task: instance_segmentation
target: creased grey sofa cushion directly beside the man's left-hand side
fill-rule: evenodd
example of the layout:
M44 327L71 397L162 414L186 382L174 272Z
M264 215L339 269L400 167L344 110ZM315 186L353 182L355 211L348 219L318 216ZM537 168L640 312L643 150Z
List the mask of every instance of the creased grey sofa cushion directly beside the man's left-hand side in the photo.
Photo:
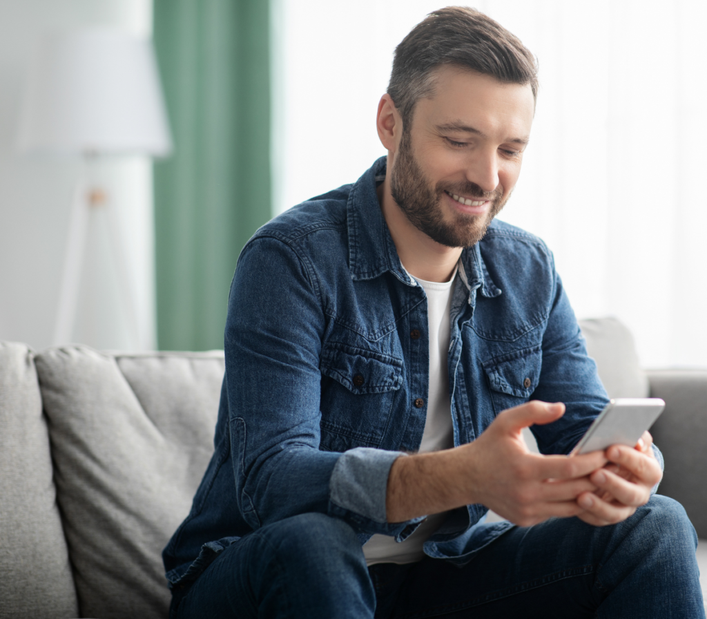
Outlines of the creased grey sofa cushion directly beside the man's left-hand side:
M167 616L160 553L213 453L223 353L38 354L83 617Z

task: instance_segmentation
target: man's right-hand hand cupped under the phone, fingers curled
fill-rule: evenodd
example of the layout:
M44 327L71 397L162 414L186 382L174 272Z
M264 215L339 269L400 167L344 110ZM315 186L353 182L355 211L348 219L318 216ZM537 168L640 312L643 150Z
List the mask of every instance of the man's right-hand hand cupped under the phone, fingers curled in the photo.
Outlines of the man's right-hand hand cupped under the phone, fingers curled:
M662 478L653 453L653 437L644 432L635 448L612 445L607 449L609 464L590 475L597 490L583 492L577 503L585 511L578 517L595 526L625 520L648 502L650 490Z

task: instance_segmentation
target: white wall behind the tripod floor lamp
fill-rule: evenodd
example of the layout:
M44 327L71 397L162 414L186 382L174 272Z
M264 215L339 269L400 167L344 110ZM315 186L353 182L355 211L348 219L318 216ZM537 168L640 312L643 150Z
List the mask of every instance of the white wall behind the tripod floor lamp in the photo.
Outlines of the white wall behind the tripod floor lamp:
M0 340L52 344L74 185L70 158L25 156L16 148L23 71L37 37L51 30L108 26L151 35L151 0L0 1ZM98 348L155 346L151 163L100 163L122 224L139 306L139 335L129 328L100 216L93 217L74 341Z

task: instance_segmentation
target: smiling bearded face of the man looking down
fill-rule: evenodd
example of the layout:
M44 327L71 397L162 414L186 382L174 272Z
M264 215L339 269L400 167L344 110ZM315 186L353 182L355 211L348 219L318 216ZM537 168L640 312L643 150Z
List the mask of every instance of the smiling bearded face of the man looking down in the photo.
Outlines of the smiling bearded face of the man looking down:
M392 197L409 221L448 247L480 241L518 180L533 113L530 86L440 69L390 171Z

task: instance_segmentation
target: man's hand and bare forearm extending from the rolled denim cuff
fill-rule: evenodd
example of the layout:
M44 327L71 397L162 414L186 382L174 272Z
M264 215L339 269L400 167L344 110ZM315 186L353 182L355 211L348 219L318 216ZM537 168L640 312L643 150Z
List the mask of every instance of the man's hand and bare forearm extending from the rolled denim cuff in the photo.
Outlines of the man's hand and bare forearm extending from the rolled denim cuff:
M532 401L501 412L472 443L398 458L388 477L388 521L470 503L521 526L581 514L577 498L597 490L589 475L607 463L604 453L540 456L528 451L521 434L524 427L558 420L564 411L563 404Z

